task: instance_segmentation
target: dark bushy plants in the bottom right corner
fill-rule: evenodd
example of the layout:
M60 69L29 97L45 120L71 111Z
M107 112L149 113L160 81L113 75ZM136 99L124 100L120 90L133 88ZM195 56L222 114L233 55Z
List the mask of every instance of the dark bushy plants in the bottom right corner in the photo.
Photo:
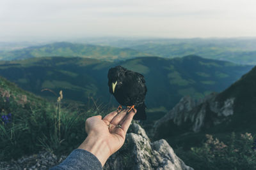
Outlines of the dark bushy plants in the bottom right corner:
M232 132L225 142L206 134L207 140L199 147L175 153L194 169L256 169L255 136Z

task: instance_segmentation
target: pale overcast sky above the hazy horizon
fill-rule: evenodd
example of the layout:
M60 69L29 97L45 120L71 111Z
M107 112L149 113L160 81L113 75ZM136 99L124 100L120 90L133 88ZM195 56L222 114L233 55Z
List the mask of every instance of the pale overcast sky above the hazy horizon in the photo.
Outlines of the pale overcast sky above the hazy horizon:
M1 0L0 41L256 36L255 0Z

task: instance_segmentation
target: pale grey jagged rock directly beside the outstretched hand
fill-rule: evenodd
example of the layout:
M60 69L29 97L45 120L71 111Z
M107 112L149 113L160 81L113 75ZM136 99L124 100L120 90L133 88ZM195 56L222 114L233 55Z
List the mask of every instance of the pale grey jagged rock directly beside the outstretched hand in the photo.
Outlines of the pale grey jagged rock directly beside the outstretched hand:
M132 124L125 145L108 159L104 169L192 170L193 168L186 166L164 139L150 142L144 129L138 124Z

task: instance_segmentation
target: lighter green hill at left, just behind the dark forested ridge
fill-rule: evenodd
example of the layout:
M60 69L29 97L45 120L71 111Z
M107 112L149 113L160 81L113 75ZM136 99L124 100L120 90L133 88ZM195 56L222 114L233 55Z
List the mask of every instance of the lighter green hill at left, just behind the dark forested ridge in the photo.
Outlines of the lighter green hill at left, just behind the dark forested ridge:
M31 46L10 52L1 52L0 59L20 60L33 57L63 56L104 60L123 60L147 55L147 53L137 52L136 50L129 48L61 42L41 46Z

